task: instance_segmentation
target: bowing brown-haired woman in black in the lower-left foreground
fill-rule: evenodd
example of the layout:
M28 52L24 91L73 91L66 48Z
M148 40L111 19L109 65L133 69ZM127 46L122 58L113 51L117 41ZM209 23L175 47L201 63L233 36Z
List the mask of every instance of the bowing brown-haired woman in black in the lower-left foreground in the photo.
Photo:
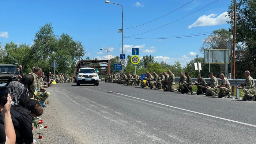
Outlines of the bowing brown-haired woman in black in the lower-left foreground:
M17 144L32 144L32 121L34 117L43 114L40 103L34 99L21 99L19 105L11 106L12 123L16 133ZM3 124L3 116L0 115L0 123Z

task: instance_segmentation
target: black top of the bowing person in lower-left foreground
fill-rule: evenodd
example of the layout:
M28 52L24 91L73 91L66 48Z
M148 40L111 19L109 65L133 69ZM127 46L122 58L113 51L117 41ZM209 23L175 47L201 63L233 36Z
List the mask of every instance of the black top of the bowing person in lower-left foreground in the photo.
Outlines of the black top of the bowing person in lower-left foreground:
M29 110L22 106L11 106L12 123L16 133L17 144L33 143L32 116ZM3 124L3 116L0 114L0 123Z

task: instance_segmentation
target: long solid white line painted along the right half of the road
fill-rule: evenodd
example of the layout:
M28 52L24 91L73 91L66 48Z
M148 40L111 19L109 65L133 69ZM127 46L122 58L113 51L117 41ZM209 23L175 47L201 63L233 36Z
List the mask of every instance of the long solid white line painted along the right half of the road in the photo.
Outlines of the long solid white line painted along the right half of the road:
M109 91L109 92L113 92L113 91ZM124 95L124 94L120 94L120 93L117 93L117 92L113 92L113 93L116 93L116 94L119 94L119 95L123 95L123 96L128 96L128 97L130 97L130 98L135 98L135 97L133 97L133 96ZM199 112L192 111L192 110L181 109L181 108L179 108L179 107L174 107L174 106L169 106L169 105L165 105L165 104L158 103L158 102L148 101L148 100L146 100L146 99L140 99L140 98L135 98L135 99L139 99L139 100L146 101L146 102L151 102L151 103L156 103L156 104L158 104L158 105L162 105L162 106L172 107L172 108L174 108L174 109L179 109L179 110L189 111L189 112L191 112L191 113L196 113L196 114L206 115L206 116L208 116L208 117L218 118L218 119L225 120L225 121L231 121L231 122L235 122L235 123L238 123L238 124L243 124L243 125L248 125L248 126L256 127L256 125L247 124L247 123L240 122L240 121L229 120L229 119L227 119L227 118L216 117L216 116L214 116L214 115L204 114L204 113L199 113Z

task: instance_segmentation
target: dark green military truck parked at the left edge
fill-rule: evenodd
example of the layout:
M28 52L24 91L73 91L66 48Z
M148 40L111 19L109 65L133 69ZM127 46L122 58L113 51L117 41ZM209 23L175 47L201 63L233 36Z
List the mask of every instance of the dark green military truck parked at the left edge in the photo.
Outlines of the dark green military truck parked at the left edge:
M7 83L10 77L17 76L16 65L0 64L0 84Z

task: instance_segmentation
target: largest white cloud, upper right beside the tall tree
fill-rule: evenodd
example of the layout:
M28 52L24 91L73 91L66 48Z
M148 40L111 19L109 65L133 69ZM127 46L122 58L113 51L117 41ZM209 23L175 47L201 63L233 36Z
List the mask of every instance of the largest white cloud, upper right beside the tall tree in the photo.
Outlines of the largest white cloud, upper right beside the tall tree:
M203 15L200 16L196 20L195 23L188 26L188 29L191 29L192 27L198 27L198 26L216 26L227 23L229 18L227 17L227 12L223 12L219 16L217 14L210 14L210 15ZM216 17L216 18L215 18Z

